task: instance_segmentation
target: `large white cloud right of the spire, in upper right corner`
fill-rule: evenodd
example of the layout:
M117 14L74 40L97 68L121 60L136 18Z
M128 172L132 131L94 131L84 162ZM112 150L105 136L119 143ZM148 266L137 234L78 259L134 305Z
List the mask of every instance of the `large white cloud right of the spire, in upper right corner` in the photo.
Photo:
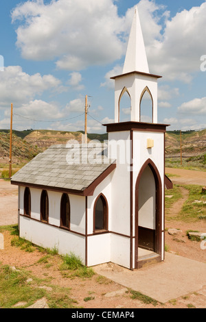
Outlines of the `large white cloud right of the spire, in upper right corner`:
M150 8L149 5L146 10ZM152 14L154 23L155 10ZM205 16L205 2L199 7L178 12L173 18L166 14L165 27L161 33L154 35L150 43L146 40L146 51L152 73L163 75L164 79L168 80L179 79L185 83L192 81L192 73L200 71L200 58L205 53ZM150 21L142 21L143 30L146 30L147 23L151 25ZM145 33L145 39L147 38L148 34Z

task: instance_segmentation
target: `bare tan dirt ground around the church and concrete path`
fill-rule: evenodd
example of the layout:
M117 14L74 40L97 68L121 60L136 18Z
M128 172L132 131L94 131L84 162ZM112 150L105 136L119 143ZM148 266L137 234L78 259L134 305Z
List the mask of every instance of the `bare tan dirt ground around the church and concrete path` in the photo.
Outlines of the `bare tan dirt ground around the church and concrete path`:
M171 173L167 171L167 173ZM196 182L196 171L194 173L194 182ZM176 177L178 178L178 177ZM206 181L205 181L206 182ZM181 209L183 201L187 199L187 192L183 191L183 199L181 202L176 203L174 208L170 210L171 213L177 214ZM11 186L10 182L0 180L0 225L10 225L17 223L17 189ZM205 221L199 223L183 223L177 221L165 222L165 227L177 228L182 230L182 234L178 237L183 240L182 242L174 240L174 236L165 233L165 244L168 245L170 252L179 254L193 260L206 262L206 251L200 247L200 243L192 242L185 236L187 230L199 230L206 232ZM144 304L139 299L131 299L131 294L123 292L122 294L114 293L122 290L123 286L100 278L97 274L89 279L81 279L75 277L73 279L65 277L60 272L60 257L52 256L49 259L49 267L47 264L38 263L45 254L40 253L37 249L32 253L25 252L19 247L11 246L11 239L9 232L4 232L4 249L0 250L1 264L8 264L11 267L24 268L30 271L32 275L42 278L50 279L51 284L56 284L62 287L71 288L70 297L76 299L76 306L82 308L206 308L206 286L198 293L189 294L185 298L174 299L174 301L166 304ZM118 270L117 265L113 265L113 270ZM90 301L84 301L86 297L91 297Z

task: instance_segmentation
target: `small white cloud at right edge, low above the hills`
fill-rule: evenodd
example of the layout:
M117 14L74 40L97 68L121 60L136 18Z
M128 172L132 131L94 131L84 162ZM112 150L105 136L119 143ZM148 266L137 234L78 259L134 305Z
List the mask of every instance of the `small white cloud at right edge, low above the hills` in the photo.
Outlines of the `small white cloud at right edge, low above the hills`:
M192 101L181 104L178 108L181 114L195 114L206 116L206 97L201 99L192 99Z

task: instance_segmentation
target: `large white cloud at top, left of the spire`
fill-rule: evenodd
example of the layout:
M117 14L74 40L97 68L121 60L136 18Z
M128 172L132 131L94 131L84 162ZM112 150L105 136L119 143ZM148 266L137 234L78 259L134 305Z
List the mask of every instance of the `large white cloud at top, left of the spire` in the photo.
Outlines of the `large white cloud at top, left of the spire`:
M59 69L80 71L121 58L124 18L112 0L26 1L12 11L23 58L54 60ZM109 49L109 50L108 50Z

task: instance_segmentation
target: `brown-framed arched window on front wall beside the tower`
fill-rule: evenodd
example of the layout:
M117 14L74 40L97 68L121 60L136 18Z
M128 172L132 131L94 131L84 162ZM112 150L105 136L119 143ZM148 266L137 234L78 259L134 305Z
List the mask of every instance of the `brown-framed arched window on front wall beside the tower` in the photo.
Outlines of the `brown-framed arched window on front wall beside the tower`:
M108 230L108 206L103 195L95 201L93 230L94 232Z

